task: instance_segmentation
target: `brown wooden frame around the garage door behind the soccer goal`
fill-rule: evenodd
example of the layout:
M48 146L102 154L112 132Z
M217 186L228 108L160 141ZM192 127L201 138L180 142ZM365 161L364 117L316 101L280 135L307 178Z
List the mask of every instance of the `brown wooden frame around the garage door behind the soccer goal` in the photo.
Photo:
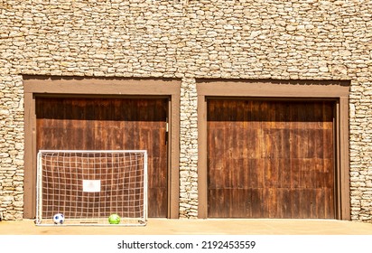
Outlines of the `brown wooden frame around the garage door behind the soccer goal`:
M24 206L23 218L33 219L36 212L36 113L39 96L85 98L169 98L168 102L168 214L180 213L180 96L181 80L116 79L23 76L24 88Z

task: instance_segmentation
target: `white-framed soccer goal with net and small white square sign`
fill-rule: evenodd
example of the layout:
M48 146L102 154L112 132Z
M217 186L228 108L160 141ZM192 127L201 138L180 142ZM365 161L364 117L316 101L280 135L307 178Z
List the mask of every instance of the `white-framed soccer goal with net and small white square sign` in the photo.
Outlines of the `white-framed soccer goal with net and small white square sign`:
M36 198L37 225L145 225L147 153L41 150Z

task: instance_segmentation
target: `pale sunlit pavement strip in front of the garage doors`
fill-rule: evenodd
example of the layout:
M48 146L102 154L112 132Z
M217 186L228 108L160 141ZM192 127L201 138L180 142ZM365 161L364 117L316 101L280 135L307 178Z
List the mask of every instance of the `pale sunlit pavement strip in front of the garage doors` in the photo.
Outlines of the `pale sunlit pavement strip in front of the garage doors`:
M145 227L35 226L0 221L0 235L372 235L372 223L343 220L163 220Z

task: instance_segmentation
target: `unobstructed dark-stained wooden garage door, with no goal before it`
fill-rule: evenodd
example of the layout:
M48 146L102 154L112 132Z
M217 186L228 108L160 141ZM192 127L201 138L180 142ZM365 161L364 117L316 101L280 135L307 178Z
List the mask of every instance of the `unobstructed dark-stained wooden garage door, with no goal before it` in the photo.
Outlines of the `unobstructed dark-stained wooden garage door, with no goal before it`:
M209 217L334 219L333 107L209 99Z

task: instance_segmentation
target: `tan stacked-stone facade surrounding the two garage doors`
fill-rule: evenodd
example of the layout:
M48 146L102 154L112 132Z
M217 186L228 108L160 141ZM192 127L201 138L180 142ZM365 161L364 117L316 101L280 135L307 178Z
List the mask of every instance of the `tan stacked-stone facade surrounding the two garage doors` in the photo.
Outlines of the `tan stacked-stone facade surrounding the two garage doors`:
M5 220L23 219L23 75L181 80L181 218L198 215L196 80L349 80L351 220L372 220L370 0L0 0Z

